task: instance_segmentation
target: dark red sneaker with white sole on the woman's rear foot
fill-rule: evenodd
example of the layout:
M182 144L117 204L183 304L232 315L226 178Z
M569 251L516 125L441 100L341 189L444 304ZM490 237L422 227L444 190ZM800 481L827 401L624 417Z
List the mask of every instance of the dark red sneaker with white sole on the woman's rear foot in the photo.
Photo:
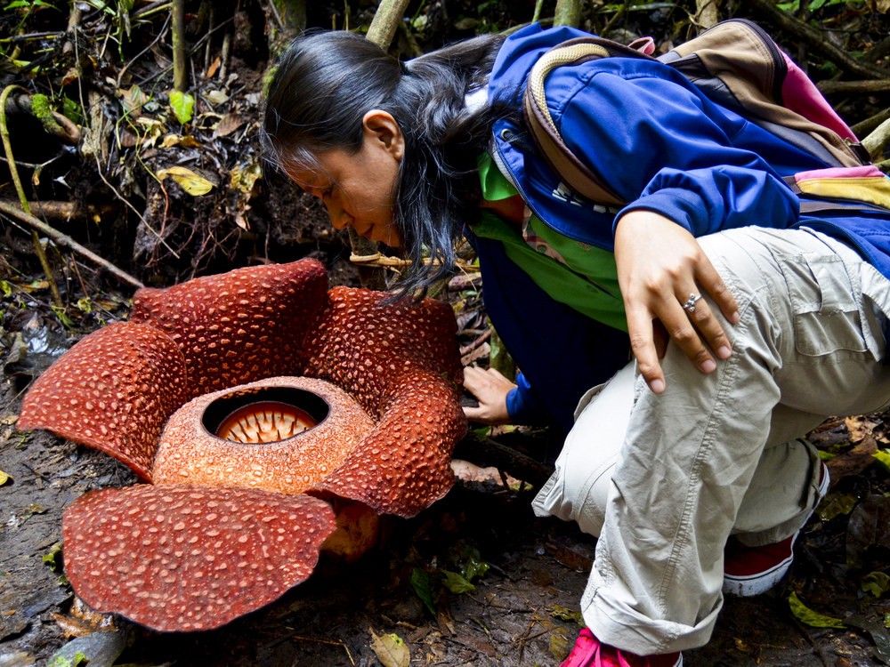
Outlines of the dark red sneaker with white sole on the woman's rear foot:
M819 499L816 505L825 497L828 490L829 469L825 463L821 463ZM812 512L810 514L812 515ZM809 520L809 516L806 519ZM802 525L801 528L803 527ZM791 562L794 560L794 542L799 534L800 530L797 530L797 533L781 542L765 544L762 547L747 547L731 537L729 542L726 542L724 550L724 593L747 598L773 588L791 567Z

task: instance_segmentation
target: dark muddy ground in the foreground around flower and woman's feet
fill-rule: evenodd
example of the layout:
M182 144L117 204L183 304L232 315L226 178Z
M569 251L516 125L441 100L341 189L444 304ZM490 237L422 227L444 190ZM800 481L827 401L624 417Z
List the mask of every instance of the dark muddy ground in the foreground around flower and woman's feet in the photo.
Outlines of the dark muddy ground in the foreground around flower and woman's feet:
M373 634L388 633L406 642L412 665L555 665L578 632L578 599L595 541L576 526L535 518L529 507L533 490L511 489L498 475L459 480L417 518L389 522L387 538L360 562L323 562L308 582L220 630L164 634L106 618L111 624L96 632L78 611L61 569L52 567L61 564L53 558L61 511L90 489L134 479L104 454L42 431L16 430L24 380L14 365L4 368L0 470L10 480L0 486L0 667L47 664L66 642L91 631L91 639L107 650L117 646L112 655L120 652L117 642L126 646L117 662L114 657L103 662L92 648L93 660L86 663L91 667L386 664L372 643ZM875 650L887 643L890 602L886 594L876 599L862 592L861 583L862 573L886 570L888 562L887 473L876 465L859 472L862 456L850 448L856 438L872 446L876 438L883 442L882 434L880 415L839 420L813 434L824 448L842 452L832 462L839 482L828 500L852 498L855 509L830 520L814 518L797 542L786 581L757 598L727 599L714 639L686 652L684 664L882 664ZM471 550L490 565L475 580L475 591L454 594L439 587L441 570L456 569ZM848 565L851 555L859 561L856 569ZM416 571L433 582L436 615L411 584ZM817 629L801 623L789 611L791 591L808 607L847 619L847 625ZM870 631L859 627L868 623Z

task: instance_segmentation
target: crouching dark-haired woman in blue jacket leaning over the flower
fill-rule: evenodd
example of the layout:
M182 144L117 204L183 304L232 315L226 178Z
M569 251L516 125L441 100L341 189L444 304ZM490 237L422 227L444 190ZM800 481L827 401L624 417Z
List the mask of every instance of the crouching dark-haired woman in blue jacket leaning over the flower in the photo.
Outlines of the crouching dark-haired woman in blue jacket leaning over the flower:
M264 137L337 229L415 260L406 292L470 237L522 378L468 369L468 415L571 428L535 509L599 536L565 664L677 665L707 643L723 589L787 571L828 485L800 437L890 401L890 224L803 216L781 179L825 163L627 58L547 78L570 149L629 204L578 197L520 110L534 62L578 34L531 26L407 63L305 36L279 62Z

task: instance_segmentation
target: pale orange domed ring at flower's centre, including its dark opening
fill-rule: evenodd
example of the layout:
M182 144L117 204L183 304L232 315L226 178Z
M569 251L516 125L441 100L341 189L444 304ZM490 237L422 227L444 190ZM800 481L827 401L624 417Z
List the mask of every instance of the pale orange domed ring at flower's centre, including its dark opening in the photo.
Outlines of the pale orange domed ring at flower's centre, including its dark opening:
M330 382L267 378L194 398L172 414L151 478L302 494L373 429L355 399Z

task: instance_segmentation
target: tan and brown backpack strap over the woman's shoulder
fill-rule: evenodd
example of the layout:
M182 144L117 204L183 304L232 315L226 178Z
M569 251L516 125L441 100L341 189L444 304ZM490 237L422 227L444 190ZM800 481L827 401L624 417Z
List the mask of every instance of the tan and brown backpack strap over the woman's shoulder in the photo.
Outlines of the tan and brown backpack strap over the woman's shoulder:
M562 181L570 189L587 197L597 204L624 205L625 200L615 194L605 181L585 165L571 152L562 141L562 136L556 128L550 109L547 108L547 100L544 94L544 82L546 77L562 65L575 65L608 58L613 55L623 55L635 58L647 58L645 51L647 46L641 44L640 50L631 46L625 46L602 37L577 37L562 44L554 46L538 59L529 74L529 82L525 86L522 96L522 114L528 125L531 135L538 144L538 149L544 153L547 162L554 167Z

